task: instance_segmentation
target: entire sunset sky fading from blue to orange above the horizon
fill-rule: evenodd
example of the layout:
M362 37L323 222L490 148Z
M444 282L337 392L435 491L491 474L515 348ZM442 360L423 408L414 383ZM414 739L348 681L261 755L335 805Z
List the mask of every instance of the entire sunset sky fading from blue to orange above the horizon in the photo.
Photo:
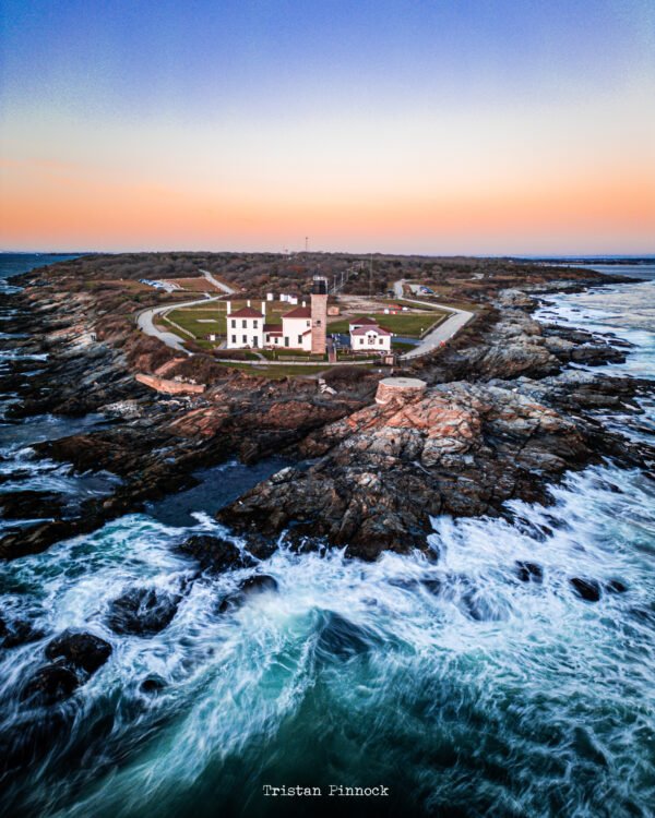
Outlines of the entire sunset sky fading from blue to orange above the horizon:
M653 0L0 0L1 250L655 252Z

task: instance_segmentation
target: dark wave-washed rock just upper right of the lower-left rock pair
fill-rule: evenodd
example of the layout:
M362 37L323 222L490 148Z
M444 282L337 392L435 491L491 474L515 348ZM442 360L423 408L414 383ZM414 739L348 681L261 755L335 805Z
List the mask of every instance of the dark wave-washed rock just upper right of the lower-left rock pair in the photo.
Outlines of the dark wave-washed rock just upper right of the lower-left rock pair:
M130 588L111 603L107 624L116 634L153 636L172 622L180 601L158 588Z

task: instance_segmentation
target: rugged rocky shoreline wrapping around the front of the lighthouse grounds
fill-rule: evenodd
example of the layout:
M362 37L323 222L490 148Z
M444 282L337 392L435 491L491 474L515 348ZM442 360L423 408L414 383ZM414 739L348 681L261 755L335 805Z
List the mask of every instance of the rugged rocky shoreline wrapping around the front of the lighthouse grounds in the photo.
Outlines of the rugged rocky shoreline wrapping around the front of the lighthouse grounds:
M96 428L33 448L37 458L78 472L106 470L120 483L76 509L56 494L3 494L7 518L45 521L5 531L0 556L93 531L192 485L196 469L234 457L255 462L284 454L303 464L219 513L254 554L270 553L284 533L300 550L346 546L364 560L385 549L427 550L430 516L499 515L510 498L547 501L548 483L603 457L647 468L653 453L607 432L595 413L639 411L635 399L651 384L568 368L622 361L624 346L532 318L539 292L608 280L585 274L499 286L451 344L404 372L425 380L427 392L384 407L373 397L385 372L334 370L336 394L321 395L315 381L272 382L218 366L210 356L176 362L126 323L116 293L107 300L74 279L24 276L4 322L7 333L22 337L2 342L37 358L10 361L0 378L2 393L14 396L8 420L99 413ZM171 398L134 380L162 366L167 377L201 377L206 390Z

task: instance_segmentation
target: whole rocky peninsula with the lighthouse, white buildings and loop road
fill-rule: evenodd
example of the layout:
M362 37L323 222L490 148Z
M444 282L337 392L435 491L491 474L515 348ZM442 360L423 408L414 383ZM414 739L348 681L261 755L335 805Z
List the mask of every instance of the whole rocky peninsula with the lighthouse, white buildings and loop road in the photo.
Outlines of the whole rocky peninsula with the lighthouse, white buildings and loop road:
M219 510L253 554L286 540L367 561L428 552L434 515L507 515L600 458L644 465L595 413L639 411L647 385L569 366L621 361L626 345L532 317L544 293L608 280L510 258L310 253L90 255L26 274L8 419L93 416L34 448L118 480L74 508L5 492L4 517L40 521L5 529L0 554L93 531L230 458L288 462ZM425 388L376 401L390 376Z

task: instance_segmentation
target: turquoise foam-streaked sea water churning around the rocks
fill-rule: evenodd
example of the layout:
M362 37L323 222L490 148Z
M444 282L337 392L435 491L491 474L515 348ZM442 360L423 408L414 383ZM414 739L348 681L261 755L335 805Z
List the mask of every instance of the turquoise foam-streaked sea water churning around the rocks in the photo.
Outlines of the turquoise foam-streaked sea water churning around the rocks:
M630 340L627 363L607 371L654 378L655 281L636 301L634 287L548 298L539 317ZM627 412L628 433L648 436L644 408ZM7 468L29 459L23 435L0 443ZM212 480L225 491L229 468ZM278 550L254 569L194 578L175 546L191 533L231 537L205 486L179 520L130 515L0 565L2 611L45 634L0 650L5 814L314 815L311 798L262 787L342 784L390 795L325 798L335 815L653 815L655 486L606 464L552 495L548 507L512 503L513 522L436 518L436 563ZM516 561L541 566L543 582L521 582ZM278 591L219 613L253 570ZM627 590L585 602L572 577ZM188 580L159 634L108 627L126 588ZM21 683L67 627L106 638L111 658L66 705L26 708ZM152 676L156 695L140 688Z

